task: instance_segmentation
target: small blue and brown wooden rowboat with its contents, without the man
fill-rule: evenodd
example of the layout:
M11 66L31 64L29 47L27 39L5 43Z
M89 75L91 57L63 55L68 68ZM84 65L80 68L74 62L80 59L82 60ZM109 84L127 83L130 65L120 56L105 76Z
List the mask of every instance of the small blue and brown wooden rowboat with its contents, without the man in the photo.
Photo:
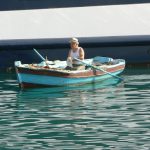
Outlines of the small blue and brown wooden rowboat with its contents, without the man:
M125 68L125 60L101 56L81 63L85 65L84 70L66 70L66 61L43 61L40 64L15 61L15 68L21 88L94 83L110 77L121 79L117 75Z

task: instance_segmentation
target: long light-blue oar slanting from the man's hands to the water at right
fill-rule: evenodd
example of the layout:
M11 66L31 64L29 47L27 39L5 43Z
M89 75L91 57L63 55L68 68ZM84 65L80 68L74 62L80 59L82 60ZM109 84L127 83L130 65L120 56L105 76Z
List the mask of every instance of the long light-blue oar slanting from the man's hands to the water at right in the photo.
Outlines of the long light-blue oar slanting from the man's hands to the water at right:
M109 75L112 76L112 77L115 77L115 78L118 78L118 79L120 79L120 80L123 80L121 77L116 76L116 75L114 75L114 74L112 74L112 73L110 73L110 72L107 72L107 71L105 71L104 69L102 69L102 68L100 68L100 67L98 68L98 67L96 67L96 66L90 65L90 64L88 64L88 63L86 63L86 62L84 62L84 61L82 61L82 60L80 60L80 59L78 59L78 58L74 58L74 59L77 60L77 61L79 61L79 62L81 62L82 64L85 64L85 65L91 67L91 68L94 68L94 69L96 69L96 70L103 71L103 72L109 74Z

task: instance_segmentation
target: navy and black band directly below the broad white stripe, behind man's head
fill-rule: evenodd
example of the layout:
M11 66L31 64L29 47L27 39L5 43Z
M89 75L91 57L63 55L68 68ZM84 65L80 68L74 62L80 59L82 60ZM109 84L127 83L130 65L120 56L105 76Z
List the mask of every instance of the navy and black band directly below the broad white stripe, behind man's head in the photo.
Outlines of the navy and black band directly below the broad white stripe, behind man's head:
M28 50L33 47L39 49L68 48L69 40L69 38L0 40L0 50ZM146 46L150 45L150 35L83 37L79 38L79 41L82 46L87 48Z

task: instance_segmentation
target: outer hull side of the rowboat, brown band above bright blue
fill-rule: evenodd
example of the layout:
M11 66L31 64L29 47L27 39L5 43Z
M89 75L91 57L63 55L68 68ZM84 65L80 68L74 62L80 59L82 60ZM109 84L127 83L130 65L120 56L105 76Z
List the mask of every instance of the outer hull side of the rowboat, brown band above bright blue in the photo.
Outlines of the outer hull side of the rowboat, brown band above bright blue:
M108 67L107 72L112 75L120 74L124 70L125 64ZM39 86L69 86L76 84L95 83L112 77L99 70L86 70L80 72L62 72L49 69L32 69L16 67L19 85L22 88Z

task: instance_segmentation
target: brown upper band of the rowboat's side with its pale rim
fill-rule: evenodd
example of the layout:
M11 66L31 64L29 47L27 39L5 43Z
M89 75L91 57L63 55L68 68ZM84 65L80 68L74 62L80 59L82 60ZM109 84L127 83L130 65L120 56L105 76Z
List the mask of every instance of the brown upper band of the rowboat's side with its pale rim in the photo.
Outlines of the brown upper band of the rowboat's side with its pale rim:
M103 65L100 66L101 69L104 71L113 73L116 71L123 70L125 67L124 62L119 62L118 64L114 65ZM99 68L99 69L100 69ZM58 69L58 68L57 68ZM87 70L56 70L56 68L29 68L29 67L20 67L16 66L17 73L23 73L23 74L34 74L39 76L55 76L55 77L61 77L61 78L87 78L92 76L100 76L107 74L106 72L102 70L97 70L94 68L87 69Z

